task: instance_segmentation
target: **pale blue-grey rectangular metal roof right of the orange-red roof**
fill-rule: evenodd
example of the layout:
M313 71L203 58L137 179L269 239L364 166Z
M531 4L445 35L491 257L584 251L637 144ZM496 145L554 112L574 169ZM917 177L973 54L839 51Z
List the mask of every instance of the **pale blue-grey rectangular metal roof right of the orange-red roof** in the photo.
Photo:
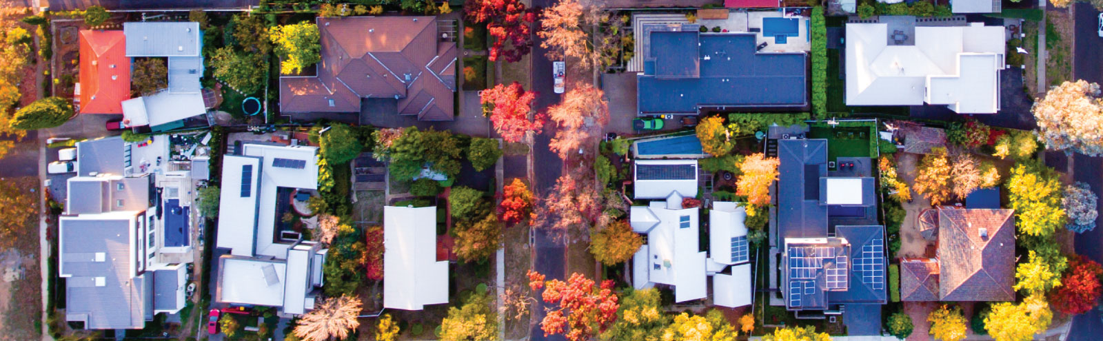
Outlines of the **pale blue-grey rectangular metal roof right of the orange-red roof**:
M199 56L200 23L143 21L122 23L127 56Z

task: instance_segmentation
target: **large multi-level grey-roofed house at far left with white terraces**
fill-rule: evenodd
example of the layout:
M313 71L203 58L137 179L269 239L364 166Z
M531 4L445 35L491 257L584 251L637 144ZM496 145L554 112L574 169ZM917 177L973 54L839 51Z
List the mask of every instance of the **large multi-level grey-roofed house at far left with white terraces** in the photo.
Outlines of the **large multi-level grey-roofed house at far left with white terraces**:
M186 171L133 164L131 156L151 151L118 137L76 149L77 175L66 182L58 219L65 320L84 329L141 329L154 313L178 313L194 259L191 201L163 183L188 181Z

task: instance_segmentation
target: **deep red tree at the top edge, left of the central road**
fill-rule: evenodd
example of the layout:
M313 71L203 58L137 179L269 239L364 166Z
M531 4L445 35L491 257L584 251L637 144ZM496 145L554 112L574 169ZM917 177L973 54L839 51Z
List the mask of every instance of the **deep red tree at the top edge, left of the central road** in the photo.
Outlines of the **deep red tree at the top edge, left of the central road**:
M536 13L520 0L468 0L463 11L468 20L486 23L486 30L494 38L490 47L491 62L500 56L510 63L517 62L533 50L532 24ZM505 42L510 42L512 49L506 47Z

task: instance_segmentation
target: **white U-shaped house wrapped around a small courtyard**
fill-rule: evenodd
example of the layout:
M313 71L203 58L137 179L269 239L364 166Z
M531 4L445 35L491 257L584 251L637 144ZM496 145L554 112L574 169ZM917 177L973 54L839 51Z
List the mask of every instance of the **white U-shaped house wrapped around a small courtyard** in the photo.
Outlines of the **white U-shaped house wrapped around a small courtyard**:
M223 157L215 301L301 315L322 286L326 248L280 217L318 190L318 148L244 142Z

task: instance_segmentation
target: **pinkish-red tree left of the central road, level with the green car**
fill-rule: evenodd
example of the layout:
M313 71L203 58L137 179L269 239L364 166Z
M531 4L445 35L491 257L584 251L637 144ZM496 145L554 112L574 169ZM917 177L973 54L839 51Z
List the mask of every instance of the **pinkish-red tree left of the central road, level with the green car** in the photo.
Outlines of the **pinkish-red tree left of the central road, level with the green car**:
M532 119L528 118L534 99L536 93L525 92L517 82L510 85L499 84L483 90L479 96L483 113L490 114L494 131L497 131L506 142L520 142L529 130L540 134L540 129L544 128L544 115L537 114Z

